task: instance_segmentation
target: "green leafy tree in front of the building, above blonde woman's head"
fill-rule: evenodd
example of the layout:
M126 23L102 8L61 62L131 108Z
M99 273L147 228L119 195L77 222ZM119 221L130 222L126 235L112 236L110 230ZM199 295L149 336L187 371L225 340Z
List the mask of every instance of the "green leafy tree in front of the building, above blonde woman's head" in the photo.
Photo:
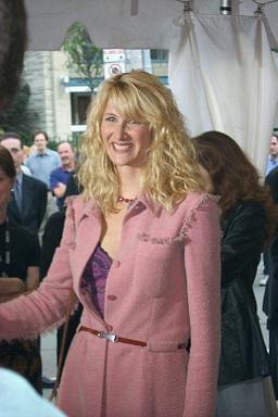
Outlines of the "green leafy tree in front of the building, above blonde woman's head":
M62 49L67 56L67 68L76 71L93 91L103 73L103 54L102 49L92 43L86 26L79 22L74 23L66 34Z

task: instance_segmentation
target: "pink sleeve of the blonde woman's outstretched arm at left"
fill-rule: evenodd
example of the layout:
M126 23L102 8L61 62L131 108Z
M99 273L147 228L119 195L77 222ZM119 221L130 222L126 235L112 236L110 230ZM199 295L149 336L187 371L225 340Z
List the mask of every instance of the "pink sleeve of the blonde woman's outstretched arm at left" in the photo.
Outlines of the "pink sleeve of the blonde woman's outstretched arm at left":
M74 243L74 211L70 205L61 247L38 290L0 304L0 339L30 339L64 321L73 287L70 250Z

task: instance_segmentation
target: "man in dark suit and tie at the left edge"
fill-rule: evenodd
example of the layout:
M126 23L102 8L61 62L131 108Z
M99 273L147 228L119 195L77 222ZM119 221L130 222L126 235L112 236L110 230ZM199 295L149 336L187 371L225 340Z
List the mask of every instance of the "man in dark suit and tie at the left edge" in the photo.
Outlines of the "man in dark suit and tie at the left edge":
M9 219L38 233L46 213L47 185L22 172L23 143L17 134L4 134L1 144L10 151L16 169L14 192L8 206Z

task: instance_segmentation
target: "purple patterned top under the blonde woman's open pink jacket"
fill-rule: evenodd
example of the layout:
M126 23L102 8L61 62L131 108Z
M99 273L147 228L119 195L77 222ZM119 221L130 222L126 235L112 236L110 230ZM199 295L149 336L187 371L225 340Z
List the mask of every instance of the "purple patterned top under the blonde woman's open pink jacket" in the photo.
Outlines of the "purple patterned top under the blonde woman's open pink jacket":
M113 260L99 243L89 258L81 278L81 287L87 288L93 305L102 317L104 315L105 283L112 262Z

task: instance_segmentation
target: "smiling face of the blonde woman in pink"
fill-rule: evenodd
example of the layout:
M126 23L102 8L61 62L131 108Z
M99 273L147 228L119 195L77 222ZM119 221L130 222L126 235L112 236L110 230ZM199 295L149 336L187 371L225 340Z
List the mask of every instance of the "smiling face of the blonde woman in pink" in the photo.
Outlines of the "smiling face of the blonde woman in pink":
M144 165L151 143L147 123L124 117L109 101L102 117L101 136L115 166L141 168Z

